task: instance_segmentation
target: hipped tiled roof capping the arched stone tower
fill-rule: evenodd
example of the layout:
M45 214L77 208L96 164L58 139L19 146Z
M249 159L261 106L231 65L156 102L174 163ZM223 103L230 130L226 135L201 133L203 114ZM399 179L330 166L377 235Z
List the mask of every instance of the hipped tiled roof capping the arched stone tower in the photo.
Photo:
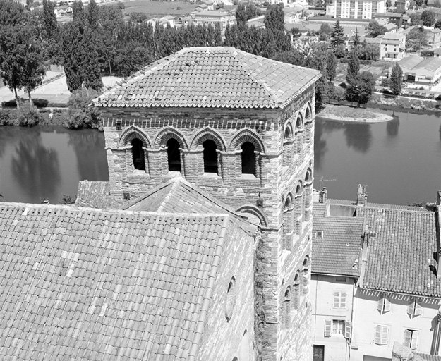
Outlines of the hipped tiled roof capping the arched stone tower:
M233 47L189 47L160 59L95 99L109 107L280 108L320 71Z

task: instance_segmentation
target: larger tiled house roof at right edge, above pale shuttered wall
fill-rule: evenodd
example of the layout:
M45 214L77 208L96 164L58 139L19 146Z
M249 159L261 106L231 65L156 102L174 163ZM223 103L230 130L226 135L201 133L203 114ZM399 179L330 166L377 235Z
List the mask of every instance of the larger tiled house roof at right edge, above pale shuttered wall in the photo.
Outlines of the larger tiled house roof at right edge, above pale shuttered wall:
M430 269L437 250L435 213L379 207L358 207L357 212L376 233L368 244L361 287L441 297L440 280Z

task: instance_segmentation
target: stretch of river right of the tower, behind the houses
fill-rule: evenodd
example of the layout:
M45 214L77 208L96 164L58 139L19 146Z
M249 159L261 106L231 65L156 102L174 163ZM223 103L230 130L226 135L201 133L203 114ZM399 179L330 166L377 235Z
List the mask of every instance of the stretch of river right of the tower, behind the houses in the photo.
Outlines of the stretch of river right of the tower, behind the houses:
M380 111L380 110L376 110ZM381 111L392 115L392 111ZM358 183L369 202L434 202L441 190L441 118L395 111L394 121L343 124L316 118L315 188L356 200Z

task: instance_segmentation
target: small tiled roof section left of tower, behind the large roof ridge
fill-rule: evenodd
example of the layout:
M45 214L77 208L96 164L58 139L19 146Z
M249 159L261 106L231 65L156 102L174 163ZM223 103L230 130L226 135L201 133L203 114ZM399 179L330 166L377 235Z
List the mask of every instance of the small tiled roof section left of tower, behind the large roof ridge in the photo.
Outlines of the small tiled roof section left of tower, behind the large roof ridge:
M110 208L110 182L78 182L75 204L80 207Z

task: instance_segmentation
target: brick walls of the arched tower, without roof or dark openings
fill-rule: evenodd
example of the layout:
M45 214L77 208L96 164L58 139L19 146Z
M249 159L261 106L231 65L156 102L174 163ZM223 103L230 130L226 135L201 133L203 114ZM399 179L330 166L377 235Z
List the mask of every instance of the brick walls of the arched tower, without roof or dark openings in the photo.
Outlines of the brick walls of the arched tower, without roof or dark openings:
M101 109L115 205L125 204L124 193L133 200L176 176L168 171L166 147L174 137L181 147L182 176L234 209L261 219L255 262L255 337L262 360L312 357L310 306L303 291L310 267L305 270L303 262L311 251L313 106L311 86L282 110ZM133 137L143 142L146 171L133 168ZM203 173L201 145L206 139L217 144L219 176ZM241 144L246 141L255 145L256 176L241 174ZM286 224L290 224L289 241L284 235ZM294 289L296 273L301 274L296 286L301 295L296 307L294 298L290 301L286 312L286 288Z

